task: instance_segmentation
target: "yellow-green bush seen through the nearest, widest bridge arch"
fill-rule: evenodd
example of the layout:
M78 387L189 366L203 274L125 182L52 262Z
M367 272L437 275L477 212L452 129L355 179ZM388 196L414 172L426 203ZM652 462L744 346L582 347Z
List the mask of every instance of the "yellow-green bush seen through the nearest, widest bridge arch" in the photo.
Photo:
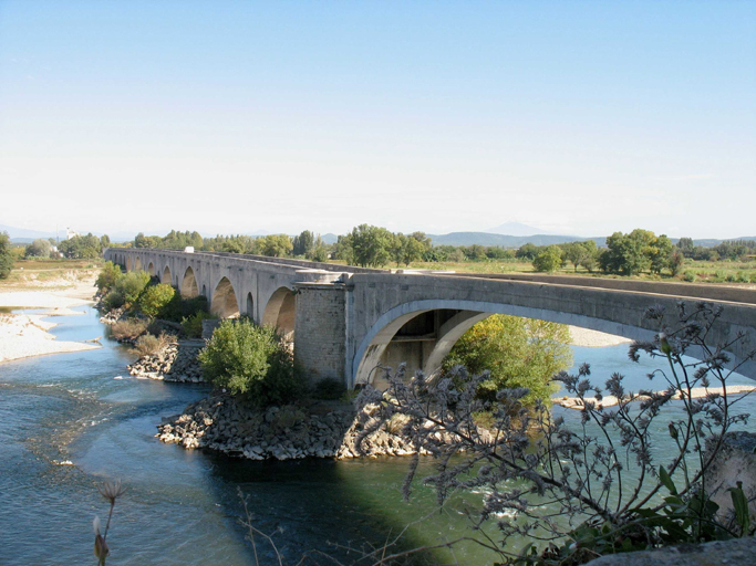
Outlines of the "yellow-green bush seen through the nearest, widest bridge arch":
M467 331L443 363L445 371L463 365L470 373L490 371L481 397L501 388L527 387L526 406L548 402L558 389L551 378L572 365L570 333L563 324L491 315Z

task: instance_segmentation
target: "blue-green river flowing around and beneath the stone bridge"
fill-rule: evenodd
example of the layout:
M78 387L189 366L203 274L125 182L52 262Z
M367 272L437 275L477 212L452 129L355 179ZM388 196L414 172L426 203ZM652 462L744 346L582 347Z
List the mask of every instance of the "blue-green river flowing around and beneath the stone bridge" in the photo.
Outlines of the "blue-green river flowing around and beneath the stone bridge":
M55 318L59 339L104 334L97 313L80 310L85 314ZM625 373L638 387L649 387L643 376L656 367L628 361L626 346L574 348L574 356L576 363L591 361L594 376ZM107 504L96 492L106 479L127 485L113 515L108 565L255 564L238 522L239 490L255 526L275 533L287 564L313 551L351 564L359 555L346 547L380 545L434 509L435 495L422 485L411 503L402 501L407 460L401 458L252 462L158 442L160 418L208 389L133 379L126 365L134 358L131 348L103 340L96 350L0 365L0 564L95 564L91 525L95 514L103 524L106 518ZM752 398L739 410L756 413L756 402ZM431 471L429 462L423 465L421 471ZM445 512L411 527L405 545L469 534L465 513L479 505L480 494L457 495ZM259 563L275 564L271 546L256 542ZM426 558L493 559L476 545ZM331 562L311 554L308 564Z

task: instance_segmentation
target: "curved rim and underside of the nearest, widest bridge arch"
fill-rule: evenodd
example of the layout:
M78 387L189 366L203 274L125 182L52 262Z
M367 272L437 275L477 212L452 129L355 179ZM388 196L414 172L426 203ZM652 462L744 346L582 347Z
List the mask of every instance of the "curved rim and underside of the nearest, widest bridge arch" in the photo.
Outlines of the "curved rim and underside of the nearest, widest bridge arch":
M507 314L525 318L538 318L553 323L570 324L583 328L604 332L631 339L651 339L652 331L629 326L615 322L593 318L584 315L518 306L505 303L487 303L462 300L424 300L413 301L386 311L369 329L355 352L352 363L352 387L367 384L375 377L375 367L380 364L387 346L396 333L413 318L434 311L457 311L439 326L435 344L424 356L423 370L432 374L441 367L441 361L449 353L454 344L473 325L491 314Z

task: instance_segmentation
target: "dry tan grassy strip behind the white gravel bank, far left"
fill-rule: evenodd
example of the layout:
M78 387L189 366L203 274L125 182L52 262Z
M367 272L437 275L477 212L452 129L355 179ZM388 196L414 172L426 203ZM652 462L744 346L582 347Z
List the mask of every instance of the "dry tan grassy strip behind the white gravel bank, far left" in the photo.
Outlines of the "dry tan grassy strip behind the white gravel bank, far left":
M17 260L0 289L66 289L92 277L101 265L102 260Z

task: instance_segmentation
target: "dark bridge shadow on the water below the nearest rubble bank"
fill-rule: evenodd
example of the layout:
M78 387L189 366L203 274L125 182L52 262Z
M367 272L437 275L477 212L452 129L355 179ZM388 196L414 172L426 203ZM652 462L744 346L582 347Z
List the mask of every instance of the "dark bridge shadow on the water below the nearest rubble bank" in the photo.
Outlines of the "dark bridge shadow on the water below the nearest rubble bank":
M386 555L452 541L469 534L463 510L480 504L479 494L467 494L455 497L444 511L434 512L435 493L420 484L412 501L404 502L401 488L407 458L251 461L208 455L215 476L210 484L219 491L216 501L221 502L227 516L244 517L239 488L248 500L255 528L272 535L284 565L299 564L303 556L302 564L309 565L373 564L377 558L365 554L393 541L414 522L418 523L407 528ZM424 461L418 478L431 471L431 461ZM247 534L238 521L236 528L239 536ZM276 552L262 536L256 536L255 543L261 565L278 564ZM255 564L251 544L247 543L247 548ZM454 553L423 552L396 564L483 564L493 558L468 544L455 547Z

